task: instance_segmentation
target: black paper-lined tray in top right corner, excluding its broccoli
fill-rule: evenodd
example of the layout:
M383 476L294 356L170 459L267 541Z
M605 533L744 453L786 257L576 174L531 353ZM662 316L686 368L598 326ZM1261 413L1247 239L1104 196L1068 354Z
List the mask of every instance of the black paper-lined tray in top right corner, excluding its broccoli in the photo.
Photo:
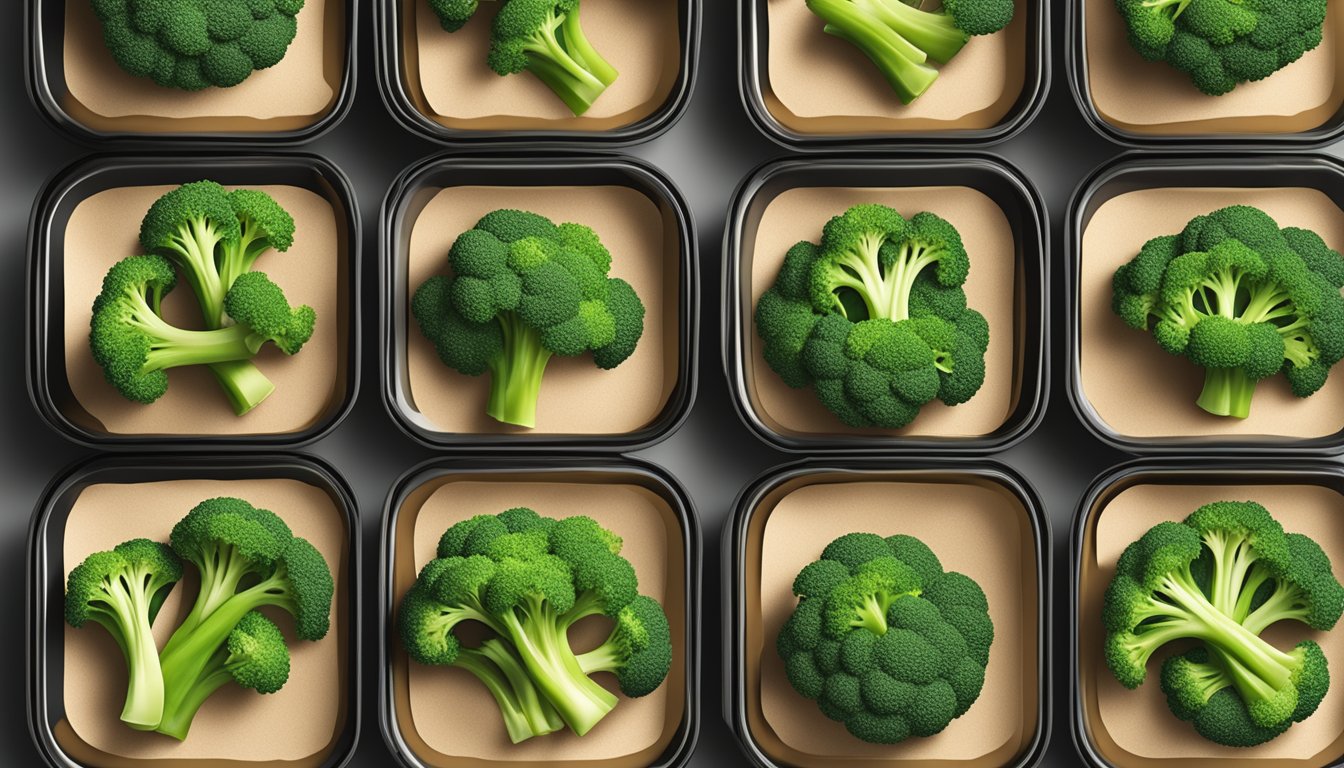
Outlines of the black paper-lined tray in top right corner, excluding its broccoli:
M1324 147L1344 132L1344 7L1324 42L1269 78L1206 95L1130 47L1114 0L1068 0L1066 66L1083 118L1126 147Z

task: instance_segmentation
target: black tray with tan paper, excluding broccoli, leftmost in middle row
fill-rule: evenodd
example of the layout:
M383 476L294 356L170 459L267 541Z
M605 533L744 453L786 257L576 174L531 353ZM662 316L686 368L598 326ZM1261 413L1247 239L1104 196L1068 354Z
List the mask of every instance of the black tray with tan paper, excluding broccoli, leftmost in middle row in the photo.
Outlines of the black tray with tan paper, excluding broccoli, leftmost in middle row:
M121 397L89 354L89 317L113 262L141 253L140 219L175 186L212 179L261 188L294 217L294 245L257 269L292 304L317 311L313 338L294 356L266 348L258 366L276 391L239 417L202 366L175 369L152 405ZM359 389L359 246L345 175L313 155L99 156L50 182L28 233L28 393L56 432L85 445L175 449L301 445L331 432ZM301 260L308 260L301 261ZM321 260L321 261L316 261ZM316 265L316 268L314 268ZM183 280L168 297L181 323L199 320Z

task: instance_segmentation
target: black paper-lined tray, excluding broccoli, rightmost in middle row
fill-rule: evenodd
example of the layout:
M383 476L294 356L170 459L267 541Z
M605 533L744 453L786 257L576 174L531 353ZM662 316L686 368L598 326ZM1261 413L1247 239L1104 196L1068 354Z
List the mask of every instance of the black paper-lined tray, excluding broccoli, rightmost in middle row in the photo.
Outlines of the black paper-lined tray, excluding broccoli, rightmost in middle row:
M1281 227L1312 229L1344 247L1344 164L1332 157L1125 156L1079 186L1064 225L1074 410L1097 437L1130 453L1339 453L1344 377L1297 398L1275 375L1255 387L1250 418L1211 416L1195 405L1202 369L1167 354L1110 308L1116 269L1148 239L1230 204L1258 206Z

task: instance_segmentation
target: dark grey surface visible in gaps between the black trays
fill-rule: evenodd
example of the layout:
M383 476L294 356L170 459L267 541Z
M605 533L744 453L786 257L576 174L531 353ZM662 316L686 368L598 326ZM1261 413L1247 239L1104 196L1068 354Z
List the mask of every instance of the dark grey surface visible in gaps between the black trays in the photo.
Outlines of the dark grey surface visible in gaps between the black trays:
M367 3L366 3L367 5ZM1059 4L1056 4L1059 9ZM1060 40L1062 19L1052 20ZM353 180L364 217L363 278L366 288L376 285L374 250L376 219L383 195L392 178L413 160L438 148L418 140L392 122L383 108L374 81L370 43L368 8L360 19L359 93L353 112L335 132L305 149L331 157ZM5 460L0 463L0 487L8 503L0 515L0 574L11 584L3 590L0 609L11 631L0 635L0 652L9 663L0 666L0 690L4 694L4 718L0 720L0 764L35 765L36 753L28 740L24 714L24 658L20 621L22 585L28 521L44 484L67 464L89 455L50 432L28 404L22 364L24 277L24 238L28 211L43 182L86 153L85 148L51 129L30 105L23 85L23 27L11 15L4 26L4 74L0 75L0 323L9 328L11 359L0 366L0 434L5 441ZM773 452L753 438L742 426L728 402L719 348L719 272L724 211L737 183L758 163L784 155L784 151L754 132L738 101L735 4L730 0L706 0L704 38L699 82L689 112L669 133L630 151L664 171L691 200L700 234L703 323L700 338L699 397L691 418L664 444L642 456L669 468L689 488L706 534L704 562L704 664L700 741L691 765L735 765L741 763L727 728L720 718L719 691L719 533L738 490L766 468L792 460ZM1121 455L1091 438L1074 417L1064 395L1063 366L1058 364L1062 348L1062 269L1060 226L1068 195L1082 178L1116 148L1089 129L1068 95L1059 51L1055 54L1055 77L1044 113L1017 139L993 149L1023 168L1040 188L1051 214L1052 291L1055 320L1051 323L1056 351L1051 371L1051 398L1044 422L1024 443L997 456L1036 486L1046 500L1054 526L1054 608L1063 616L1068 525L1083 487L1102 469L1121 460ZM371 292L366 296L372 297ZM413 464L433 453L392 425L378 394L375 301L364 303L366 356L362 360L363 386L349 420L310 452L328 459L355 488L360 506L366 554L376 562L379 518L384 496L392 482ZM375 569L366 566L366 576ZM363 588L366 605L375 603L372 582ZM371 612L370 612L371 613ZM367 628L366 648L376 648L374 627ZM1068 734L1067 625L1055 621L1055 699L1054 730L1046 765L1075 765ZM375 670L368 664L366 679ZM376 690L364 686L363 736L352 761L356 767L388 765L378 733Z

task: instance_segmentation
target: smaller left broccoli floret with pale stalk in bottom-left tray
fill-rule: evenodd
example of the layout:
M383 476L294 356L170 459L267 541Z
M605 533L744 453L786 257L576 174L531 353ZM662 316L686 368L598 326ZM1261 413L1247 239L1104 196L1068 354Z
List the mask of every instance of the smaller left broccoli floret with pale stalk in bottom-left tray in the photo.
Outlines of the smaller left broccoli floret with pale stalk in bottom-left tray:
M164 679L151 627L180 578L181 561L171 549L132 539L90 554L66 581L66 621L101 625L126 659L121 720L137 730L153 729L163 717Z

